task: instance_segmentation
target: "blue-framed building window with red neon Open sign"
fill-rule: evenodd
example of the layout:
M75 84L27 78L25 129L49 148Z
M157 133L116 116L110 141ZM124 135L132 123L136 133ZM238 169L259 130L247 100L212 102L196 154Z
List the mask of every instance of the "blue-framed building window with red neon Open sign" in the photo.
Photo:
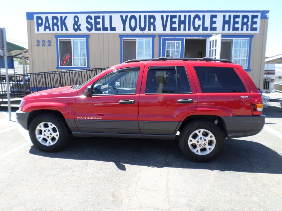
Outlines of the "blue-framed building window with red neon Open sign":
M57 39L57 69L89 68L89 35L56 35L55 38Z

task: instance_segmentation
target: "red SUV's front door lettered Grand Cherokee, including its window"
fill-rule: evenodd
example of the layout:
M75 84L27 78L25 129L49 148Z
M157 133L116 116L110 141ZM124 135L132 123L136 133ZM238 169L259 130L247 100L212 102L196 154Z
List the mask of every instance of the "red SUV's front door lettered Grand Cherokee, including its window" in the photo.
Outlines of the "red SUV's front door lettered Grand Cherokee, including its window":
M137 116L144 64L130 65L94 82L92 96L76 98L80 132L140 134Z

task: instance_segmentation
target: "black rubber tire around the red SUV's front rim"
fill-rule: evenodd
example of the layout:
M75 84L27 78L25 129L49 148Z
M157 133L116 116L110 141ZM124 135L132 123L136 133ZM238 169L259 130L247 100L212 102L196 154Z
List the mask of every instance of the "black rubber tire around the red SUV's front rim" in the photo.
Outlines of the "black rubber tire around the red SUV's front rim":
M53 145L50 146L43 145L36 138L36 127L42 122L51 122L53 125L55 125L58 128L58 133L59 133L58 139ZM43 152L56 152L57 150L66 146L66 144L70 140L70 134L71 134L70 129L66 124L66 121L52 113L42 113L36 116L32 120L28 132L33 145L37 149Z

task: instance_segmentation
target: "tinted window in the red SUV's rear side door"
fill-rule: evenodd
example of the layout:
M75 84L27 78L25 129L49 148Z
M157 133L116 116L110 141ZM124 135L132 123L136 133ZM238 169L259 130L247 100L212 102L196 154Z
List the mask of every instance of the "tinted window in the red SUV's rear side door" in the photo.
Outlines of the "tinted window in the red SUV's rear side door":
M191 93L191 88L185 67L149 67L145 93Z

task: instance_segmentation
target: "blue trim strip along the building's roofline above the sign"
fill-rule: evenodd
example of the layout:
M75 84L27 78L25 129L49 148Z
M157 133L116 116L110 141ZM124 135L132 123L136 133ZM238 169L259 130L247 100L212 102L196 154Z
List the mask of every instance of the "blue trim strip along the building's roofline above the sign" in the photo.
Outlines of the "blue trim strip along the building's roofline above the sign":
M91 11L91 12L27 12L26 20L34 20L34 15L52 14L122 14L122 13L261 13L261 19L268 19L269 10L175 10L175 11Z

